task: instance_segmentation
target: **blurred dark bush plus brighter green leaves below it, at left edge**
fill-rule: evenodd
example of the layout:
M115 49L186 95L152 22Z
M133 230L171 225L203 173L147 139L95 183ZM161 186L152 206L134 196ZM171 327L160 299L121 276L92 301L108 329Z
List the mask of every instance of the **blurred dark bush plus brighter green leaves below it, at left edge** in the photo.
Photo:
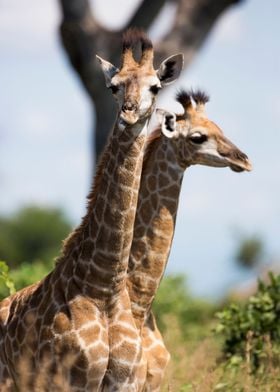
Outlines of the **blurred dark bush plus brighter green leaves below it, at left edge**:
M17 290L37 282L53 268L71 223L59 208L27 206L0 217L0 260L10 268ZM0 280L0 299L9 292Z

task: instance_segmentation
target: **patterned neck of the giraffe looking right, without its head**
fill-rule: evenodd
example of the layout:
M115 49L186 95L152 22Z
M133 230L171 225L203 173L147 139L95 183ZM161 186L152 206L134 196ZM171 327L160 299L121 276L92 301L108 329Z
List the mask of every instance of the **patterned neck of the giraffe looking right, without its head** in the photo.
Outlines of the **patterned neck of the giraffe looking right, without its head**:
M184 169L176 147L165 137L149 145L143 164L127 285L140 328L168 260Z

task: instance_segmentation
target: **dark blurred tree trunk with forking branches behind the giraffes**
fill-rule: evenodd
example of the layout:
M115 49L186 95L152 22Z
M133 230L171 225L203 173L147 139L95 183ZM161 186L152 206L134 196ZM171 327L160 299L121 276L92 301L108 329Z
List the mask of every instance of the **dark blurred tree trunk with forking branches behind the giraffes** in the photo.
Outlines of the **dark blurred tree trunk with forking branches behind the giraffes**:
M70 62L87 90L95 108L93 151L98 160L116 116L113 98L107 92L104 77L95 59L99 54L118 65L122 31L106 30L96 21L88 0L58 0L62 11L60 35ZM181 52L187 66L205 41L221 13L242 0L173 0L177 4L174 21L166 36L155 47L155 61ZM147 30L166 0L143 0L125 29L131 26Z

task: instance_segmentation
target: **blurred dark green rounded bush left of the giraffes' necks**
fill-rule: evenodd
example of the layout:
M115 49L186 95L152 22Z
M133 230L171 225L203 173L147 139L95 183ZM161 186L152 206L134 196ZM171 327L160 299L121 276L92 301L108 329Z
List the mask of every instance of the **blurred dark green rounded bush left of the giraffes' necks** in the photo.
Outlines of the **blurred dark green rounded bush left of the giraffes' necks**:
M10 218L0 218L0 258L12 268L22 262L50 262L70 230L58 208L24 207Z

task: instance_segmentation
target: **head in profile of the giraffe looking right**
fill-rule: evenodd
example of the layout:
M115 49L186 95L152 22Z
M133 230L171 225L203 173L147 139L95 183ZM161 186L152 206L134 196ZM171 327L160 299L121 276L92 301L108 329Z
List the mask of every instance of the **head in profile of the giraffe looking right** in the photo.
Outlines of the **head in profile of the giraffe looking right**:
M250 171L251 163L222 130L206 117L204 106L209 97L202 91L180 91L177 101L183 106L183 114L157 110L161 131L172 139L181 167L202 164L230 167L235 172Z

